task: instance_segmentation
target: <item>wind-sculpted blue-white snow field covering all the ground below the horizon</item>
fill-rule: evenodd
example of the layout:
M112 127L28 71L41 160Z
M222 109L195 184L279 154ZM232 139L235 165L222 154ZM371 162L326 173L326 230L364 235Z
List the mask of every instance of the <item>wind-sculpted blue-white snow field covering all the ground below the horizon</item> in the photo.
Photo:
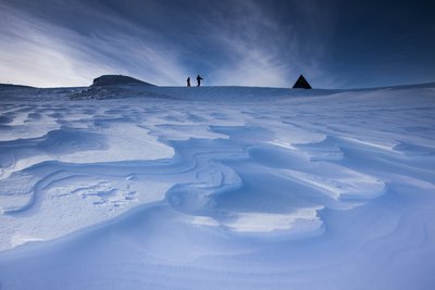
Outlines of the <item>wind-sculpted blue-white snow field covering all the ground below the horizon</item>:
M435 287L435 86L0 103L2 289Z

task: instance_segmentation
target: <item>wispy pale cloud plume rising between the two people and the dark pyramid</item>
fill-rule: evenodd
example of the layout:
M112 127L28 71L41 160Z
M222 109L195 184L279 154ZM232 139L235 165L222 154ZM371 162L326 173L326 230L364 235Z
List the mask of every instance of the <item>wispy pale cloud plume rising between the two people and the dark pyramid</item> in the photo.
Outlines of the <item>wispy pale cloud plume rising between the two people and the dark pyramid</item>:
M228 8L233 10L233 8ZM229 14L229 17L228 17ZM226 55L226 62L210 73L214 84L288 86L289 66L282 56L279 27L252 1L216 15L204 26Z

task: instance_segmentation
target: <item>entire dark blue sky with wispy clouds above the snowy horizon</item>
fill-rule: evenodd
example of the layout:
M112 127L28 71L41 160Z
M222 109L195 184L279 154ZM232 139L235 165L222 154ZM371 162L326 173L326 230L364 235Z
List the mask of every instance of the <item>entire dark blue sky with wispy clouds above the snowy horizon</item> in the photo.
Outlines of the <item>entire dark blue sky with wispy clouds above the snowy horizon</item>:
M433 1L0 0L0 83L183 86L435 81Z

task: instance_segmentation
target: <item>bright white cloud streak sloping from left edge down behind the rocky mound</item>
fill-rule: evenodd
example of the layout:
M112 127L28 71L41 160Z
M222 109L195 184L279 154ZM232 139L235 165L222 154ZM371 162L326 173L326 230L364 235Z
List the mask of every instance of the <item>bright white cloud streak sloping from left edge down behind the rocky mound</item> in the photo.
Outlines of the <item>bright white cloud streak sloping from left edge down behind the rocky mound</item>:
M127 74L163 85L184 79L175 53L140 36L85 36L0 5L0 83L88 86L102 74Z

